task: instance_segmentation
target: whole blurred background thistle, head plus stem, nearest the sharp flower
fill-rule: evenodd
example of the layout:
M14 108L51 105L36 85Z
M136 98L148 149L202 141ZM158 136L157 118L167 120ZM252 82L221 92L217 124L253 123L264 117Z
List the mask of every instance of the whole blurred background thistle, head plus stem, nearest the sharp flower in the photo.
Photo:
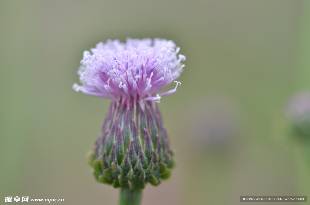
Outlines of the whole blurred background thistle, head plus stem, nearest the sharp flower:
M228 195L231 173L235 167L240 112L233 99L221 94L208 94L187 104L182 127L186 139L184 149L191 155L179 154L186 165L195 170L184 173L188 188L194 197L204 194L210 204L226 204L227 198L213 197ZM182 165L180 165L182 166ZM196 187L193 190L190 187ZM201 192L197 192L201 190ZM203 190L203 191L202 191ZM203 193L202 193L203 192Z

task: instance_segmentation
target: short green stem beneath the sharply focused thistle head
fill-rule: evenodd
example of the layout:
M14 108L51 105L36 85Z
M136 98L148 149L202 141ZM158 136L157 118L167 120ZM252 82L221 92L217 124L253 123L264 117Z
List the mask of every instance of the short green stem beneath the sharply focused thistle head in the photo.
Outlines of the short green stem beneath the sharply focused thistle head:
M142 189L129 186L122 186L119 192L119 205L140 205L142 198Z

